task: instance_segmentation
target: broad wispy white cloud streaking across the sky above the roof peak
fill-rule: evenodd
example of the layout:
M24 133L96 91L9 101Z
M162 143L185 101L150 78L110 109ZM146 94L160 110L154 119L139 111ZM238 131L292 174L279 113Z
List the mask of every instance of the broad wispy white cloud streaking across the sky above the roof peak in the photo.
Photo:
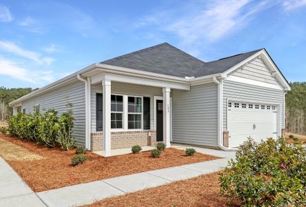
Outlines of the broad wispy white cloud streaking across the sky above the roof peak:
M257 12L276 4L272 1L205 1L179 10L159 11L143 17L136 27L156 25L174 32L181 44L212 43L247 26ZM196 52L196 51L195 51Z

